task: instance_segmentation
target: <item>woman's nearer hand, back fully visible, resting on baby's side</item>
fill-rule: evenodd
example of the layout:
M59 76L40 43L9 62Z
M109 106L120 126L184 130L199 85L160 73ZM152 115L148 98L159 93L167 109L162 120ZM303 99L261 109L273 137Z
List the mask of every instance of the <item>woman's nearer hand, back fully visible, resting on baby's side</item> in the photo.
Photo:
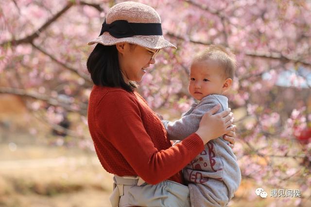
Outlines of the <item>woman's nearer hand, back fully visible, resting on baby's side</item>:
M234 128L231 126L233 122L231 109L227 108L221 113L215 114L219 108L220 104L207 111L200 121L199 129L195 132L204 144L211 139L229 133Z

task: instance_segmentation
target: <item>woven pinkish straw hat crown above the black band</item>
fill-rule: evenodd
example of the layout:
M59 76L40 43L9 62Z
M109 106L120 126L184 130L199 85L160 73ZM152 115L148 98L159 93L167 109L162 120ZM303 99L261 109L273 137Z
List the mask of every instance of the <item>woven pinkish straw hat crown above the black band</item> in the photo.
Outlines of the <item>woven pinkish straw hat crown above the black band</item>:
M134 2L125 1L111 7L106 14L106 23L126 20L132 23L161 23L160 16L154 8Z

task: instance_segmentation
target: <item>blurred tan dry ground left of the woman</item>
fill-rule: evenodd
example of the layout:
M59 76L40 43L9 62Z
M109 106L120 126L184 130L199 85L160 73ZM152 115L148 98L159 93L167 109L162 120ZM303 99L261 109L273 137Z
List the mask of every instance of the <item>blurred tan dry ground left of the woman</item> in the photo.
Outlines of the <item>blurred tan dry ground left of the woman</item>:
M112 175L95 155L68 156L64 149L26 147L45 158L0 161L0 206L2 207L109 207ZM0 146L5 152L5 146ZM70 151L70 150L69 150ZM75 150L73 150L75 151ZM64 153L66 152L66 153ZM23 154L18 152L17 156Z

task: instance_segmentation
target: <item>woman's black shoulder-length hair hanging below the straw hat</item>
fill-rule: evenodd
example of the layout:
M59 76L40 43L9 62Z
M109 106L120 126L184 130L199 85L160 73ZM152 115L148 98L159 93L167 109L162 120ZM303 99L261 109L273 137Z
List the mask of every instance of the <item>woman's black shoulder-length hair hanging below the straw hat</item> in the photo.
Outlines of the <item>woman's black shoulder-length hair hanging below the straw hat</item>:
M135 82L124 82L116 45L97 44L87 58L86 67L96 86L121 87L129 92L137 88Z

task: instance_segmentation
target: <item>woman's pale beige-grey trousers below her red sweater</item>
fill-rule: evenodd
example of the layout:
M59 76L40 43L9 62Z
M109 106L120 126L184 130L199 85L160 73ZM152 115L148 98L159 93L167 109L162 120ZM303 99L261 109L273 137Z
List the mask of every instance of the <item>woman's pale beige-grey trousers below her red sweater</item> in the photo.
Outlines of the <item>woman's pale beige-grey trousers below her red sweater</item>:
M141 184L139 177L117 175L113 180L112 207L190 207L189 188L180 183L165 180L156 185Z

